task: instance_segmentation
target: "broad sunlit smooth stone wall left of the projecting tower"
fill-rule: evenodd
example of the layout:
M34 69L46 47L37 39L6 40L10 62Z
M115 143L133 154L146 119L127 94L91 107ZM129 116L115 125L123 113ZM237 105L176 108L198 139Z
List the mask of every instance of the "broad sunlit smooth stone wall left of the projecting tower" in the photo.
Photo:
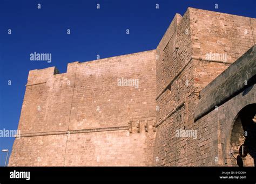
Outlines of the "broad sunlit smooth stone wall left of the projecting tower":
M18 126L22 137L9 166L151 165L155 55L73 62L63 74L55 67L31 70ZM138 83L120 86L122 77Z

